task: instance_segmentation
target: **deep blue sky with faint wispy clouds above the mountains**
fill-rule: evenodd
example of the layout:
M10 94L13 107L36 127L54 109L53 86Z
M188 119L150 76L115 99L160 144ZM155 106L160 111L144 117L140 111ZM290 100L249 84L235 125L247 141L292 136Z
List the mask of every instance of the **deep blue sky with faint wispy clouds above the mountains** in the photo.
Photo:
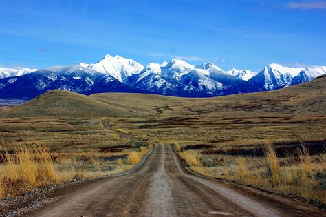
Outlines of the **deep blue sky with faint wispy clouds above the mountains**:
M150 62L326 65L326 1L0 0L0 66Z

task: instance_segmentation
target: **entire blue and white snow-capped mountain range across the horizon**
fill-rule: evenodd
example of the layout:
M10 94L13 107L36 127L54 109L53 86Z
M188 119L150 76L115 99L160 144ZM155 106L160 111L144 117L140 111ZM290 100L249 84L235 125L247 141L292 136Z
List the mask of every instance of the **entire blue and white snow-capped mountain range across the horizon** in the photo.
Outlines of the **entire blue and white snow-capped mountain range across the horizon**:
M326 66L290 68L279 64L261 72L224 71L213 63L191 65L179 59L149 63L106 55L97 63L36 69L0 68L0 99L32 99L49 90L82 94L100 92L151 93L208 97L276 90L326 74Z

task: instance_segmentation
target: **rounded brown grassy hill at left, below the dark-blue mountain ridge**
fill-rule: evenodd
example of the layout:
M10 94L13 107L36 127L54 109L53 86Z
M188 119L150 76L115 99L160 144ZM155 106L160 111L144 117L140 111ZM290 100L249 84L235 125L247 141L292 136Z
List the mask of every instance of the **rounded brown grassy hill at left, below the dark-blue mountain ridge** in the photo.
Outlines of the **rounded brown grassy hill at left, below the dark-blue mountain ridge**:
M17 107L11 107L1 116L8 117L100 117L128 116L133 112L124 107L103 103L83 94L66 90L52 90Z

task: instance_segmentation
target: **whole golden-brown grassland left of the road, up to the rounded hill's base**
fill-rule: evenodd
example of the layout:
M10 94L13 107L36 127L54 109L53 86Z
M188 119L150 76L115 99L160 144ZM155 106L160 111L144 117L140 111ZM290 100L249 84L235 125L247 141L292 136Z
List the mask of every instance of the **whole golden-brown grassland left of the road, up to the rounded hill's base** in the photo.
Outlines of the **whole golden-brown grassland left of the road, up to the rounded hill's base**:
M148 150L148 143L105 130L96 118L1 118L0 198L120 173Z

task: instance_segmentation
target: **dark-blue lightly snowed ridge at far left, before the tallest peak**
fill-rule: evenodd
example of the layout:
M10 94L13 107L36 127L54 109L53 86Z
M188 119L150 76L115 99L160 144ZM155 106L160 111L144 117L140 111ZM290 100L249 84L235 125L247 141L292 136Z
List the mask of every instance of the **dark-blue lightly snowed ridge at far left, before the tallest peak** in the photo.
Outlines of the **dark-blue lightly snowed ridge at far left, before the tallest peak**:
M97 83L100 83L100 87L95 87ZM109 74L80 65L68 65L0 79L0 98L31 99L54 89L92 93L92 88L100 92L137 92Z

